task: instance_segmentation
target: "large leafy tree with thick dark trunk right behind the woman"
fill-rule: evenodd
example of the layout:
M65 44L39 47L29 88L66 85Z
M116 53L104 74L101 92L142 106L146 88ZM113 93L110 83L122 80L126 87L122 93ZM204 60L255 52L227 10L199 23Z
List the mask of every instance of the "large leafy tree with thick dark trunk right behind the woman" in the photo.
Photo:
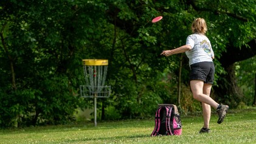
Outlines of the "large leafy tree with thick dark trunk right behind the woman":
M220 103L232 103L234 107L238 105L243 94L237 87L233 64L255 55L254 1L134 1L115 4L111 7L116 9L110 9L112 11L108 12L111 18L115 19L112 23L133 38L148 33L144 39L153 38L156 42L151 41L151 43L160 49L162 46L177 47L184 44L181 43L181 39L189 35L193 18L198 16L205 18L209 26L208 36L217 59L215 60L215 98ZM125 5L126 9L119 9L121 6L118 4ZM125 17L123 13L130 13L130 16ZM147 24L145 19L150 19L149 15L163 15L164 20L157 23L157 26L145 25ZM149 30L158 26L162 27L161 30L159 29L161 35L157 35L157 38L152 37L156 34ZM140 33L136 33L138 31ZM176 39L179 39L179 43ZM232 57L230 53L233 53ZM230 100L233 101L230 103Z

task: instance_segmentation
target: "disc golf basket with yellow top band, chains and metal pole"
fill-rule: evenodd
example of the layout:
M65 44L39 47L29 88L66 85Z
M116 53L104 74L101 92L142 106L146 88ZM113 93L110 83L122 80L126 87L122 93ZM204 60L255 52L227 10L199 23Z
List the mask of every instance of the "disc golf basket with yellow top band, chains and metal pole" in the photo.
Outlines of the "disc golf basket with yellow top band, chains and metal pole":
M108 60L83 60L86 85L80 86L81 97L94 98L94 125L97 126L97 98L110 95L110 86L105 86Z

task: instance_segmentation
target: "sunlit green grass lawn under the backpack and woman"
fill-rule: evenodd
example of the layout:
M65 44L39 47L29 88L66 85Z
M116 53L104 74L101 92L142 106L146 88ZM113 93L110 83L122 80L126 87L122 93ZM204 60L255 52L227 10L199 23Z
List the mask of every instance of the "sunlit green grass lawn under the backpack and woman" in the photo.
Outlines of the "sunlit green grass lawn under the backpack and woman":
M256 109L230 111L224 122L212 114L211 132L198 134L201 116L181 117L182 135L150 137L154 120L125 120L0 130L0 143L256 143Z

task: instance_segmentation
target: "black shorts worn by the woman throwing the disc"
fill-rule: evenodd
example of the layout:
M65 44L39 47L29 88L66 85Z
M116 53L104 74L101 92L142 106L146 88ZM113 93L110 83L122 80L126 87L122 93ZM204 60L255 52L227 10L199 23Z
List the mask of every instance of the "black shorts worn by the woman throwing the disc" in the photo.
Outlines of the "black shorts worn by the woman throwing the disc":
M190 69L190 81L202 80L204 83L213 84L215 66L212 61L191 64Z

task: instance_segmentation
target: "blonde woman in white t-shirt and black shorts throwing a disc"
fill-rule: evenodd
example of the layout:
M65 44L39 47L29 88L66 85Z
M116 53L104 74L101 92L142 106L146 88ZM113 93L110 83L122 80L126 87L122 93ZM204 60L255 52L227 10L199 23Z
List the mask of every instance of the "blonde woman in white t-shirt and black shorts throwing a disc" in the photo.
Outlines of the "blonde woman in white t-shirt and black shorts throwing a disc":
M210 132L209 122L211 107L218 113L218 122L222 123L226 112L229 109L227 105L219 105L210 97L210 91L213 84L215 66L213 64L214 53L209 39L206 37L206 21L203 18L196 18L192 23L192 35L187 36L184 46L173 50L163 50L161 55L166 57L176 53L185 52L189 58L190 64L190 87L193 98L202 103L202 114L204 117L204 126L199 131Z

